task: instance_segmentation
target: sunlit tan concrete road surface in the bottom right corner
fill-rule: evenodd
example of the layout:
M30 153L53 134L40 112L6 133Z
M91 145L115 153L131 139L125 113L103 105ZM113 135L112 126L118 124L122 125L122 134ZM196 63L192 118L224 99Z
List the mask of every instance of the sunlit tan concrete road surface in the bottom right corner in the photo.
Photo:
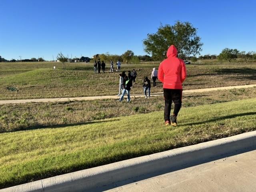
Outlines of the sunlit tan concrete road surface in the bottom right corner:
M172 191L256 191L256 150L107 190L107 192Z

